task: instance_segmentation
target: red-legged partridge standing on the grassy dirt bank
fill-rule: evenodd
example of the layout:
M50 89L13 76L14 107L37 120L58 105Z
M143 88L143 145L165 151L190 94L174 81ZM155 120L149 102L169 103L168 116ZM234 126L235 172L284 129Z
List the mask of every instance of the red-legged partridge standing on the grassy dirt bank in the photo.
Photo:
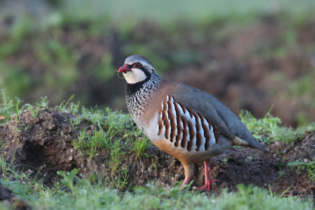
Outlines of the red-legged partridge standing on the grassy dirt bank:
M118 72L126 79L127 109L142 132L161 150L182 162L189 183L194 163L204 162L210 190L209 159L233 145L267 151L238 117L209 93L163 80L144 56L133 55Z

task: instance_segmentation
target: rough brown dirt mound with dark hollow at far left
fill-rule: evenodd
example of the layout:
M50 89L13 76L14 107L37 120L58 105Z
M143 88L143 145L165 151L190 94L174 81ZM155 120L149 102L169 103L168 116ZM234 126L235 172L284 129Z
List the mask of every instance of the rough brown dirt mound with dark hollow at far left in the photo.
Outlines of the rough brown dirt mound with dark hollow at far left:
M40 170L46 165L39 177L45 177L48 185L54 183L58 170L79 168L79 159L70 158L80 156L71 150L70 136L75 133L68 124L70 117L53 109L43 110L32 119L31 112L24 111L18 122L10 120L0 128L4 157L7 160L14 157L15 165L21 165L17 170Z

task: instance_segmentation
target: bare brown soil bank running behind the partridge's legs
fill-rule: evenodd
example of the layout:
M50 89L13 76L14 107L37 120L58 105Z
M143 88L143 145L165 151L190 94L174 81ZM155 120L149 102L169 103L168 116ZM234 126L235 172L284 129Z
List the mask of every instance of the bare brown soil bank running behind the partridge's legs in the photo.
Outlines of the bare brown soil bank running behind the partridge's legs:
M75 150L72 140L78 138L79 130L86 127L92 132L95 126L87 125L82 120L74 129L69 119L70 113L59 112L57 109L42 109L35 119L29 111L24 111L18 118L0 126L0 138L3 145L4 158L10 161L14 157L14 165L18 170L30 170L33 174L40 171L38 179L52 186L58 179L57 171L70 171L80 168L80 176L89 178L97 174L108 183L115 182L119 172L110 168L110 153L106 150L91 158ZM160 186L167 187L176 181L184 179L184 167L174 157L151 146L150 157L137 157L128 149L125 150L120 168L128 166L126 187L145 185L150 180L156 180ZM253 184L271 189L281 194L290 187L285 195L301 198L315 194L315 182L310 181L306 171L296 172L287 167L288 162L299 158L313 160L315 158L315 134L306 133L302 140L292 145L276 142L266 146L269 153L260 150L236 147L210 161L211 177L218 181L212 185L212 190L220 193L221 188L235 191L238 183ZM204 182L204 167L202 163L195 165L193 186L202 186ZM193 188L197 190L196 188Z

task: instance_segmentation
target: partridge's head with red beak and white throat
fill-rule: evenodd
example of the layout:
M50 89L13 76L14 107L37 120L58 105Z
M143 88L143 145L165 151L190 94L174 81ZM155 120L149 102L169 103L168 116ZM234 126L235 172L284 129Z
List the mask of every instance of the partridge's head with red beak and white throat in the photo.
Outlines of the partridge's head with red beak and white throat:
M123 72L128 84L135 84L150 79L156 70L146 57L133 55L126 58L125 64L119 68L118 72Z

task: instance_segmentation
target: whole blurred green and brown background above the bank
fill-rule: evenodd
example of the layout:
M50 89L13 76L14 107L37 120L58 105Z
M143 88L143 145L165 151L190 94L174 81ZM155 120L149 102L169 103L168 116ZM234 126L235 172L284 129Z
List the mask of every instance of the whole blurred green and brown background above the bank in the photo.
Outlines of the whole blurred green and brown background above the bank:
M0 89L126 112L126 57L297 126L315 121L315 0L0 0Z

